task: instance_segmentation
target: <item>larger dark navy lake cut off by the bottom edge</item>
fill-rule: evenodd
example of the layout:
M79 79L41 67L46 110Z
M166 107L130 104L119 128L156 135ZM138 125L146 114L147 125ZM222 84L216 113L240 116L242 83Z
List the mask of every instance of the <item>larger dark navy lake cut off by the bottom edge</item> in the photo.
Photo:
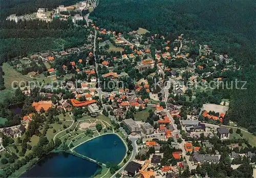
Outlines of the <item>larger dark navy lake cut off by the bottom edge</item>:
M50 153L20 177L91 177L100 166L68 153Z

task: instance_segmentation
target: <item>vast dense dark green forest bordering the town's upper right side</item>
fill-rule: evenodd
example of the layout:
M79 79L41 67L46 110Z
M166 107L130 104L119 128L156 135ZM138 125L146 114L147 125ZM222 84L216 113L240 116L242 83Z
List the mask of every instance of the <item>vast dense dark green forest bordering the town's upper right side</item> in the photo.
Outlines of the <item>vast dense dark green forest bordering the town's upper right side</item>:
M90 16L108 30L124 33L141 27L151 34L184 34L231 56L242 70L227 77L247 81L247 89L218 91L230 100L224 123L235 121L256 135L256 98L251 97L256 95L255 8L255 1L101 0Z

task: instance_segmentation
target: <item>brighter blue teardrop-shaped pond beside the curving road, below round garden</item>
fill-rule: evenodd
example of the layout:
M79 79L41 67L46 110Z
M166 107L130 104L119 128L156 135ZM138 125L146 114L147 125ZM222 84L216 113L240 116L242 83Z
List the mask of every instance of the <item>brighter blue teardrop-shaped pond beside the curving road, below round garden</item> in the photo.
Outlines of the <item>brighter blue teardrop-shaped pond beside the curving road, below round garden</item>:
M125 156L126 148L118 136L109 134L86 142L75 148L75 151L102 163L119 164Z

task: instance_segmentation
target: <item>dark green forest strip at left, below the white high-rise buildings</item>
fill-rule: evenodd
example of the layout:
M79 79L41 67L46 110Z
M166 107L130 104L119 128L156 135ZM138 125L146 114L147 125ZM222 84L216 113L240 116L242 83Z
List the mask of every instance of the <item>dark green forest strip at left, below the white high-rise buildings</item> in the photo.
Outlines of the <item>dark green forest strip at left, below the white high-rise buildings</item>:
M82 46L87 29L75 27L71 20L54 19L50 23L40 20L5 21L0 25L0 63L36 52L61 51Z

